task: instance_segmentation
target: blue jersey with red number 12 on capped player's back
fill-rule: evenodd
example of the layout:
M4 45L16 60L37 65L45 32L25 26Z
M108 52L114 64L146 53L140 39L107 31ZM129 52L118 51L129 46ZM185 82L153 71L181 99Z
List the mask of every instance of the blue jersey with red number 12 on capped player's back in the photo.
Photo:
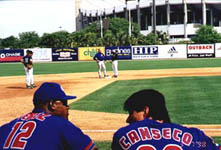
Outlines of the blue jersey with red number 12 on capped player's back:
M78 140L80 136L85 141ZM72 123L45 112L26 114L0 128L1 150L77 150L90 142Z

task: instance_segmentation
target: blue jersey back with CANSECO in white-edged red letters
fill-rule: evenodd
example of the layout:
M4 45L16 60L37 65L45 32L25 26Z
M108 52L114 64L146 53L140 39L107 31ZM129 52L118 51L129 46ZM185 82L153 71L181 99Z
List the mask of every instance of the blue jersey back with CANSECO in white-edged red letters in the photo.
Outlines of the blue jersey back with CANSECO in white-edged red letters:
M196 128L145 119L119 129L114 134L112 149L218 150L219 146Z

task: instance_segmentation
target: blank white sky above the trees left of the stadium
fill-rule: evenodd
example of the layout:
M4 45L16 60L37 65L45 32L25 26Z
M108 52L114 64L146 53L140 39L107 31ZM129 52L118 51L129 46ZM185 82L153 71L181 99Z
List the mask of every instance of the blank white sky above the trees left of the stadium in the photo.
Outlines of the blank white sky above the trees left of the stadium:
M0 0L0 38L76 30L75 0Z

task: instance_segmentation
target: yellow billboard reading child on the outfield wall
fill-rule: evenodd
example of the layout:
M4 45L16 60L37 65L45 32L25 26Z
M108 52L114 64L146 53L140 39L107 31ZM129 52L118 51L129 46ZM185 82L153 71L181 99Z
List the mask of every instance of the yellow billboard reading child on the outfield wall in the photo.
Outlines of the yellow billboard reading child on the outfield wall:
M79 47L78 60L93 60L93 57L98 52L98 49L105 54L104 47Z

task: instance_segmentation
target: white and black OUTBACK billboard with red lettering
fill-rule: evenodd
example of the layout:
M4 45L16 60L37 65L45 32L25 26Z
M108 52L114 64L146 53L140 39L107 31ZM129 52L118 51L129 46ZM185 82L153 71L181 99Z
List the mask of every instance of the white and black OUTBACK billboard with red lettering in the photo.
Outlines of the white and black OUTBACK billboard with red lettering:
M214 44L188 44L187 58L215 57Z

